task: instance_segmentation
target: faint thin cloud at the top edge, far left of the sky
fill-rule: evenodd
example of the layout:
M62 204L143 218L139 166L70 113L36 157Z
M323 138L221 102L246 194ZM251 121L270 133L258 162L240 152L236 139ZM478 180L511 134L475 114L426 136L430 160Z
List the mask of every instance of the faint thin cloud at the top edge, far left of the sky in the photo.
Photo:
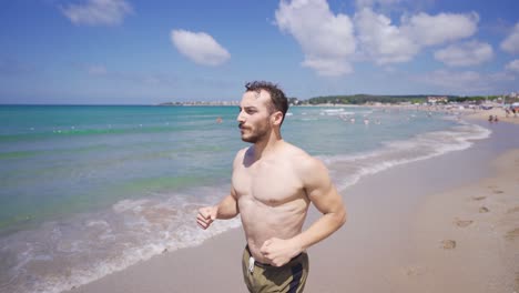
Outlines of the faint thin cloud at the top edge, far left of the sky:
M122 23L133 10L124 0L88 0L85 4L70 4L61 11L74 24L114 26Z

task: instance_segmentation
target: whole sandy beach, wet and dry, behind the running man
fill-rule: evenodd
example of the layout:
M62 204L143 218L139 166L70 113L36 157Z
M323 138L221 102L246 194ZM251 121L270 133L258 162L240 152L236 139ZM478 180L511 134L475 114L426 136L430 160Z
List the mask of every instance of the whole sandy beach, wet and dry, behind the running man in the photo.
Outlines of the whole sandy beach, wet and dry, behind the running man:
M306 292L519 291L519 128L485 117L472 148L342 190L348 222L309 249ZM70 292L246 292L244 245L235 229Z

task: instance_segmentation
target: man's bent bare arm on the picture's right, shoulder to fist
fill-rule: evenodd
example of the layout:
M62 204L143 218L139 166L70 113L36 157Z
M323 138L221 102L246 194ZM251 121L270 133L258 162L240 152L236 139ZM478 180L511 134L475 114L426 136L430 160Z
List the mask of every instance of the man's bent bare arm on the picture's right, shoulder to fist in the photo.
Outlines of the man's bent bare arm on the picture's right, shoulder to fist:
M337 193L323 162L311 158L299 171L308 199L323 215L306 231L292 239L265 241L261 251L275 266L287 263L304 250L328 238L346 222L343 198Z

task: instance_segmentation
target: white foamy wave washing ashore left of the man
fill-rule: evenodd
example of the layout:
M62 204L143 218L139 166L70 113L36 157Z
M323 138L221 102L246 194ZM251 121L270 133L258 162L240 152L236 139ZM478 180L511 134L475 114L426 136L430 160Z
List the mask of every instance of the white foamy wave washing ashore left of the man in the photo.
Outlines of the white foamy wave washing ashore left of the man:
M47 222L0 240L0 291L58 293L124 270L166 251L200 245L241 225L238 219L196 225L197 209L223 194L222 188L199 188L192 194L154 194L122 200L111 209Z

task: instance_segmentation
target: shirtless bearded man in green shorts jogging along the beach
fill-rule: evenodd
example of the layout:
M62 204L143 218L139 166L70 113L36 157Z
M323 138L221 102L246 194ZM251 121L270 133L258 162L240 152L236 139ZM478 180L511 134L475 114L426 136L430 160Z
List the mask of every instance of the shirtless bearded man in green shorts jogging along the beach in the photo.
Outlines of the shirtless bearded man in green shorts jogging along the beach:
M303 292L308 274L305 250L346 221L346 210L326 166L285 142L281 125L288 101L277 85L245 85L237 117L242 140L253 143L237 152L231 194L217 205L199 210L207 229L216 219L238 213L247 245L243 274L251 292ZM309 203L323 215L302 232Z

